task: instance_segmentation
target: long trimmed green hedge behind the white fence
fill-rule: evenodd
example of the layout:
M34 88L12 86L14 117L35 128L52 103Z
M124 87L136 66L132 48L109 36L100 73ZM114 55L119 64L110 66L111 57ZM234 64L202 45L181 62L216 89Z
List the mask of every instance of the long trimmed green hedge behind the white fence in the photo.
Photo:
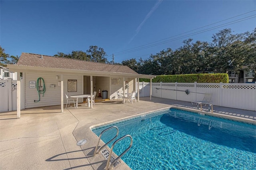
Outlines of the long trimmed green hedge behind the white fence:
M140 78L140 82L150 82L148 78ZM152 82L179 82L179 83L228 83L228 74L180 74L161 75L152 79Z

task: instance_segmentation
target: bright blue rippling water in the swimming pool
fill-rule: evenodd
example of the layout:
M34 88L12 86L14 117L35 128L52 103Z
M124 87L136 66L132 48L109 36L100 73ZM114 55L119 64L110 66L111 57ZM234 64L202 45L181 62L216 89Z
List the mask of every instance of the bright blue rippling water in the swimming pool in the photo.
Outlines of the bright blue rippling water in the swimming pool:
M133 170L256 169L255 125L180 109L159 111L114 125L119 128L117 139L124 135L133 138L132 148L122 156ZM99 136L111 126L93 132ZM102 135L102 140L106 143L115 135L116 129L111 129ZM120 141L114 152L120 155L129 144L128 138Z

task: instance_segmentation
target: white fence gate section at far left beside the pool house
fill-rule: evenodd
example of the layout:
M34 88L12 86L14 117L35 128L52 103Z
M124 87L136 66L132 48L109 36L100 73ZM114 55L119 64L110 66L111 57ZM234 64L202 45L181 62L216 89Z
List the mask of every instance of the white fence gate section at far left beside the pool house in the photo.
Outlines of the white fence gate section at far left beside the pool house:
M17 80L0 80L0 112L17 110Z

